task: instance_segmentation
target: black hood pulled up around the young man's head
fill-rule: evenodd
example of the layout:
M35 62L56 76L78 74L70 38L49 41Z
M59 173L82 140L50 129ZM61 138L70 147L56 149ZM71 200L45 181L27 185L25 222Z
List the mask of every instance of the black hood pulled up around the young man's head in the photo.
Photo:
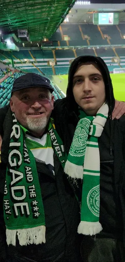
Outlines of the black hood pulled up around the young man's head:
M105 95L106 95L106 100L108 101L108 105L109 105L109 115L111 115L114 109L114 105L115 105L113 86L112 86L112 81L111 81L110 74L109 74L109 69L101 57L79 56L76 59L74 59L74 61L71 63L69 67L68 86L67 86L67 91L66 91L66 97L68 101L70 102L70 105L72 105L73 111L77 111L78 105L73 95L73 76L79 64L85 63L85 62L95 62L98 65L98 67L100 68L100 71L101 71L101 74L103 76L103 80L105 83Z

